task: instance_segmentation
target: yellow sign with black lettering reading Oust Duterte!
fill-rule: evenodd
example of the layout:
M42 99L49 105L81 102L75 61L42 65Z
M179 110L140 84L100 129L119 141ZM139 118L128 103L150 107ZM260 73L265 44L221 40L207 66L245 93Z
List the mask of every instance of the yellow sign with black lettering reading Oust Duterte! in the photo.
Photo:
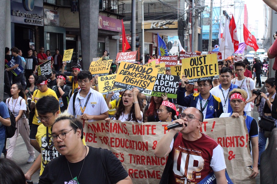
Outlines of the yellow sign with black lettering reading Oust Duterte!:
M182 59L182 66L185 77L189 79L188 82L219 79L216 54Z

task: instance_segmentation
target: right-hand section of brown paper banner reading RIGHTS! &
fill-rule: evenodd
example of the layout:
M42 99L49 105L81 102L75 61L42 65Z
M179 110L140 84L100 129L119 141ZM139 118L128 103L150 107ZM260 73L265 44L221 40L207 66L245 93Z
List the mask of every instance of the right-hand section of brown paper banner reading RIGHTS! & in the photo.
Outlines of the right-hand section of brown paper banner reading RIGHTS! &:
M215 139L224 150L226 170L233 183L256 183L249 178L253 172L249 149L249 134L245 116L203 120L200 132Z

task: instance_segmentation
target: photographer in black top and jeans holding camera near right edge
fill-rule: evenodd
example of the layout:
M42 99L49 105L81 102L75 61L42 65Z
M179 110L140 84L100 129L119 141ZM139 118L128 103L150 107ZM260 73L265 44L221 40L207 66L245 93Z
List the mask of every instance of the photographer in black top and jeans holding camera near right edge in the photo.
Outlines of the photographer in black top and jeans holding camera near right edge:
M265 88L267 93L260 92L260 96L257 98L258 112L260 113L261 120L259 121L259 161L258 167L260 166L260 155L263 153L266 146L266 139L270 137L273 126L276 126L277 120L271 116L272 103L276 94L274 85L274 78L268 78L265 82ZM264 127L264 125L269 126ZM271 126L270 126L271 125ZM273 125L273 126L272 126Z

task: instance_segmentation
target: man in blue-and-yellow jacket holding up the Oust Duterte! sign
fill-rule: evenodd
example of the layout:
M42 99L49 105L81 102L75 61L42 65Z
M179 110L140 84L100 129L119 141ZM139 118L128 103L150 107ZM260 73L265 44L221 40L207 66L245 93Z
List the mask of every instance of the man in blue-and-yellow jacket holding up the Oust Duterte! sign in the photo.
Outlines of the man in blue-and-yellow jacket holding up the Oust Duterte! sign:
M221 99L210 93L212 88L212 81L199 81L199 93L185 96L185 83L188 79L183 75L181 79L181 87L177 91L177 104L184 107L195 107L204 114L204 118L219 117L223 112Z

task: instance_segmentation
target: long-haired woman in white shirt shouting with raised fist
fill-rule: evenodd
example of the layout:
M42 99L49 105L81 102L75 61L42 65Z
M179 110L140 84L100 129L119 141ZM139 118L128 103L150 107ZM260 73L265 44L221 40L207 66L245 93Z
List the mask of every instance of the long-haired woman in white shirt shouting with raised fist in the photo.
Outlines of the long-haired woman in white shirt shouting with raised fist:
M132 91L125 90L120 97L119 105L116 109L114 117L116 120L133 121L142 123L143 112L142 112L142 101L138 97L138 88L133 88ZM110 122L111 118L106 118L106 122Z

